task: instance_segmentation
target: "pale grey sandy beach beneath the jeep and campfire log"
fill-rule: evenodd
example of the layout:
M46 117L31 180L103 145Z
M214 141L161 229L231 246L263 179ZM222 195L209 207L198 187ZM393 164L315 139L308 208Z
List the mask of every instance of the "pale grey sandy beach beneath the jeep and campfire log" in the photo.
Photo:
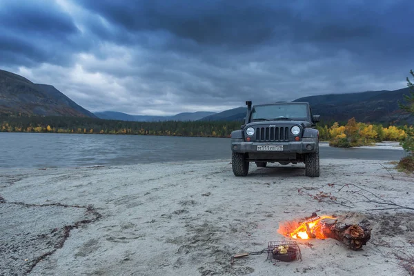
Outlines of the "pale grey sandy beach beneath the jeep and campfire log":
M234 177L228 160L0 170L0 274L409 275L414 181L393 167L321 160L319 178L304 177L303 164L250 164ZM322 193L334 199L315 199ZM313 212L365 215L371 240L359 251L297 241L302 261L265 253L230 264L288 240L279 223Z

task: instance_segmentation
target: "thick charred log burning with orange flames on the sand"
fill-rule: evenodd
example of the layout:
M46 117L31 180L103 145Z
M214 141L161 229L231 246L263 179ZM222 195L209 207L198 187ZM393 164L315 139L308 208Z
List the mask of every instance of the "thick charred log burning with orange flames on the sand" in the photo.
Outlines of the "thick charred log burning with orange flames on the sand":
M280 224L278 232L293 239L337 239L352 250L359 250L371 238L368 219L357 213L337 217L313 213L300 221Z

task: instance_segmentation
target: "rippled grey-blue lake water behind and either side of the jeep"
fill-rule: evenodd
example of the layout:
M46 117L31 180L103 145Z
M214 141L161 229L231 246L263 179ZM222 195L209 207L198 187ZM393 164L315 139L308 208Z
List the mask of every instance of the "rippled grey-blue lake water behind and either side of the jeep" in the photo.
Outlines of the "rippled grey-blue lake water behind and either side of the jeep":
M399 160L402 150L319 147L321 159ZM55 168L226 159L230 139L0 132L0 168Z

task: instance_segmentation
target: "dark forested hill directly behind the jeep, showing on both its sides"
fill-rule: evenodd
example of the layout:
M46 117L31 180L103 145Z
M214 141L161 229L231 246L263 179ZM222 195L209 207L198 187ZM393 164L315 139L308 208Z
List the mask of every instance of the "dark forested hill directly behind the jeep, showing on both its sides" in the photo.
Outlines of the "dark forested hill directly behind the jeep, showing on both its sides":
M394 91L368 91L347 94L330 94L303 97L295 101L307 101L314 115L321 115L322 121L357 121L377 124L414 124L414 116L403 114L398 101L409 94L408 88ZM254 102L253 102L254 105ZM246 108L225 110L210 115L201 121L242 121Z

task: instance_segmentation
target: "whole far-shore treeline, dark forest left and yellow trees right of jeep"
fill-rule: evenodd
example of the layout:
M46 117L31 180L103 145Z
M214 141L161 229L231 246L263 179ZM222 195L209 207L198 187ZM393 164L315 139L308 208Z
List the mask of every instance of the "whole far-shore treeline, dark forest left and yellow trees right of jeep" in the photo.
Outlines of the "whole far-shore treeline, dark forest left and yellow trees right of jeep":
M163 135L189 137L230 137L239 121L116 121L81 117L0 115L1 132L54 132L117 135ZM351 147L376 141L402 141L406 132L397 126L364 124L350 119L346 124L317 124L319 139L331 146Z

